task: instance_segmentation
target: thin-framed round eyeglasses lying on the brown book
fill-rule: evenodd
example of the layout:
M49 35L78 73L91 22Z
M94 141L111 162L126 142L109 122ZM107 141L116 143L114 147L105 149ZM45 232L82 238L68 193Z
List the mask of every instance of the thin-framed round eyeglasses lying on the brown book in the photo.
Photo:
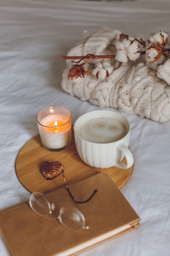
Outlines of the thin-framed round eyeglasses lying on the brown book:
M93 196L97 192L97 189L95 189L92 195L85 201L75 201L66 182L64 171L62 171L62 175L66 189L75 204L82 204L88 202L89 200L91 200L91 198L93 198ZM55 204L50 204L49 200L45 197L45 195L43 195L40 192L33 192L31 194L29 198L29 205L31 209L40 216L48 216L55 209ZM59 219L60 223L64 227L66 227L67 229L71 229L73 231L89 228L86 225L86 220L84 218L83 213L79 211L79 209L77 209L76 207L61 207L57 219Z

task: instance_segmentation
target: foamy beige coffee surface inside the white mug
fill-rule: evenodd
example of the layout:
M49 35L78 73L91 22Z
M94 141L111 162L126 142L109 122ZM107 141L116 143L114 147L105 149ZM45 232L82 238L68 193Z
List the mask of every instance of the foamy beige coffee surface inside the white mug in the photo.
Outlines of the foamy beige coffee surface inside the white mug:
M127 128L117 119L97 117L85 121L78 127L77 133L86 141L109 143L123 138L127 134Z

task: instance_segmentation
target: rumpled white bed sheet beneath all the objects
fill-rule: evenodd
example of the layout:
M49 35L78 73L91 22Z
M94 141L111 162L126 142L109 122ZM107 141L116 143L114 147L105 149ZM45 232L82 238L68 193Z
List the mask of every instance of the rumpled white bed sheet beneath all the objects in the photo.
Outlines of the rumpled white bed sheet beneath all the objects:
M64 106L73 123L85 112L103 109L61 88L62 55L84 30L100 26L145 38L159 29L170 33L170 1L0 1L0 210L29 198L16 176L15 159L38 134L35 117L41 109ZM140 226L80 255L169 256L170 121L160 124L123 114L131 124L135 162L121 192L141 217ZM8 255L1 237L0 256Z

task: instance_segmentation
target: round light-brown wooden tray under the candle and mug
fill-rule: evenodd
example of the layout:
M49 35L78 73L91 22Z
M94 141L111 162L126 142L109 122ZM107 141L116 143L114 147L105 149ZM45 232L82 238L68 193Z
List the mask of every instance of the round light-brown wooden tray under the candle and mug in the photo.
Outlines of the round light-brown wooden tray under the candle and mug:
M34 191L47 193L64 186L62 175L53 180L44 178L41 172L41 164L44 161L60 161L64 164L64 173L68 184L105 171L120 189L132 172L132 167L100 169L85 164L80 159L75 147L73 126L71 146L64 151L52 153L44 150L40 135L29 140L20 150L15 163L16 173L22 186L31 193ZM124 158L122 162L126 163L126 159Z

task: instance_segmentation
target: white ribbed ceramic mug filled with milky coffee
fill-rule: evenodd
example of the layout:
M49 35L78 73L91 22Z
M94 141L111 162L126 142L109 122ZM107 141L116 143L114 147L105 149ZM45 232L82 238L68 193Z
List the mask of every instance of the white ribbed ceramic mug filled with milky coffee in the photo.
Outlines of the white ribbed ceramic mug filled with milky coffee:
M89 166L132 166L133 155L128 148L130 123L123 115L109 110L88 112L75 121L74 134L79 157ZM127 164L121 163L124 157Z

